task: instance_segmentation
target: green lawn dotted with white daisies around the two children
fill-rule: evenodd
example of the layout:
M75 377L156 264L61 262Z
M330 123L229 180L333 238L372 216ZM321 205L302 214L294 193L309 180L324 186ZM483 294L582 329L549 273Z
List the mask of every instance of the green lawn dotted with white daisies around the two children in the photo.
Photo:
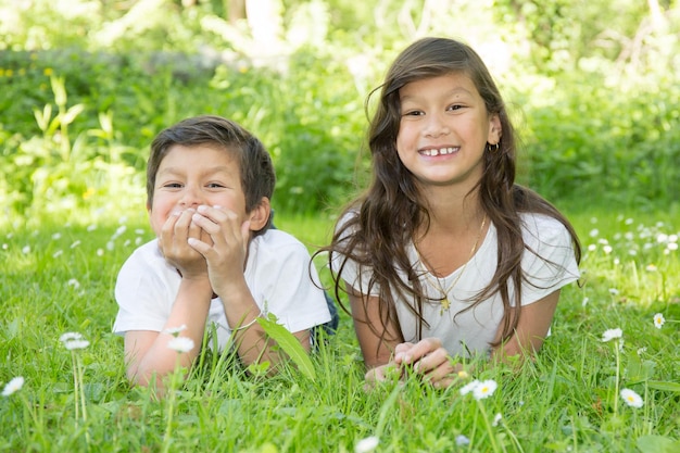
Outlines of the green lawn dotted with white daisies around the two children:
M247 376L234 357L205 353L169 407L128 386L123 342L111 334L117 269L151 238L143 213L123 219L125 228L117 219L4 224L0 388L16 376L25 383L0 397L0 451L353 452L372 436L380 452L678 451L680 332L672 322L680 320L680 251L658 237L678 234L680 214L576 203L565 212L583 241L583 286L563 291L553 335L534 363L518 370L480 365L474 377L498 389L479 401L459 394L464 381L436 391L410 379L365 392L343 314L339 334L313 357L315 380L292 367L274 378ZM285 213L276 224L311 250L332 227L328 216ZM652 320L657 312L667 319L662 329ZM618 354L601 341L616 327L624 331ZM77 417L72 354L59 341L66 331L90 341L76 351L86 402ZM633 389L644 405L629 407L616 388ZM470 443L458 446L458 436Z

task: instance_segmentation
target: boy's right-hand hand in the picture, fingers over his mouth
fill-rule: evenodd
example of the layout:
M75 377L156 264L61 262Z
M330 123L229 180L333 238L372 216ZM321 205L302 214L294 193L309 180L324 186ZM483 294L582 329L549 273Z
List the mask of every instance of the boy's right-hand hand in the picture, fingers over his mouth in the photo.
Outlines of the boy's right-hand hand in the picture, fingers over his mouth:
M243 268L250 239L250 222L239 223L232 211L201 205L191 221L207 235L207 240L196 236L187 239L188 246L205 259L207 276L213 290L225 300L238 287L245 286Z

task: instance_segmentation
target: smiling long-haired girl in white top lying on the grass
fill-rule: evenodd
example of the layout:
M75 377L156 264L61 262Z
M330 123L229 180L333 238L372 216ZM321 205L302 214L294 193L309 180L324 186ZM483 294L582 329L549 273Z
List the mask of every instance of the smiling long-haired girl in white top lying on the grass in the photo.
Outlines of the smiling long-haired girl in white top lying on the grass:
M373 180L325 249L366 379L412 365L446 387L462 369L452 357L532 354L581 252L569 222L515 184L514 130L487 67L464 43L426 38L378 89Z

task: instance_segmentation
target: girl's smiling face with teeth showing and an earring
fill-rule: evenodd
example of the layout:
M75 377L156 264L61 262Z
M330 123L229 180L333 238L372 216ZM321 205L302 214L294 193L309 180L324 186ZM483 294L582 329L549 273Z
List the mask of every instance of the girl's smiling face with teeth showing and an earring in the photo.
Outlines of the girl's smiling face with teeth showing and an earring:
M473 80L464 73L426 78L399 90L399 158L428 186L463 185L481 178L487 142L501 139L498 114L489 115Z

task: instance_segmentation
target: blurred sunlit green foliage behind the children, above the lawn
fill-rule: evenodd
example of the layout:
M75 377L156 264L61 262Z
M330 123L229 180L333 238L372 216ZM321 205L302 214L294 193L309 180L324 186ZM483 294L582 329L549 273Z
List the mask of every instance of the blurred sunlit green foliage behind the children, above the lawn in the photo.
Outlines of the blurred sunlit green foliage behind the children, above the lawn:
M554 201L677 204L678 1L255 1L268 22L190 3L0 2L8 213L143 209L149 142L201 113L263 139L276 209L336 206L366 167L367 93L426 35L466 40L495 74L521 183Z

